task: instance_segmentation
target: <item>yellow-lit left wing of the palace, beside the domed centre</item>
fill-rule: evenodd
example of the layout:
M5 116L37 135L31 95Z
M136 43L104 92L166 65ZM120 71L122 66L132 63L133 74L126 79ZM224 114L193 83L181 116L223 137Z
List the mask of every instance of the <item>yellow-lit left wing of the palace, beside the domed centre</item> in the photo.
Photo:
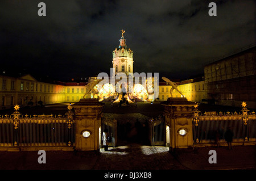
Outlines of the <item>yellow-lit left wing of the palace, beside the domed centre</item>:
M16 104L20 107L63 102L78 102L84 95L86 83L47 83L30 74L22 77L0 75L0 109ZM88 97L89 98L89 97Z

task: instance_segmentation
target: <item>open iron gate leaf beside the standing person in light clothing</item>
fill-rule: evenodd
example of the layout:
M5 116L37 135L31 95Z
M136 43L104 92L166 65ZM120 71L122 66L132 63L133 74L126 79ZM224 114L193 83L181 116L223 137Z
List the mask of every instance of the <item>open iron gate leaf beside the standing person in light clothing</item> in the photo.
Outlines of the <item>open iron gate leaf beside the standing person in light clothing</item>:
M108 129L109 141L108 145L115 147L117 145L117 120L115 119L106 119L102 117L101 119L101 145L103 144L102 134L105 129Z

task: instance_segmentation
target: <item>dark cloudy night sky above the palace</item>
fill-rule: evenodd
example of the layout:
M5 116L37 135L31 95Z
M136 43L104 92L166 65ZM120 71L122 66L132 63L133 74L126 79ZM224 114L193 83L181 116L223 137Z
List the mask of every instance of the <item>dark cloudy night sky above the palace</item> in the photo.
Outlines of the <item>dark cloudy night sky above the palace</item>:
M38 16L38 3L46 16ZM210 2L217 16L209 16ZM134 72L168 78L255 43L255 1L0 1L0 70L60 81L110 74L121 31Z

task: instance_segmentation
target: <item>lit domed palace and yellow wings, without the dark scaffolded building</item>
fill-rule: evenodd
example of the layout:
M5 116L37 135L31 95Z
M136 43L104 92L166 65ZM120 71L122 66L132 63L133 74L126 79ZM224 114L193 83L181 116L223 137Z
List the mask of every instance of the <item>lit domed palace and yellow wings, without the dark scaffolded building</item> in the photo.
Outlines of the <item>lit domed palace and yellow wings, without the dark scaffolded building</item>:
M113 50L113 69L114 75L118 73L124 73L129 77L133 76L133 51L127 48L126 39L123 36L122 31L121 39L119 39L119 46ZM55 82L47 83L40 82L32 77L30 74L23 75L22 77L10 77L5 74L0 75L0 109L10 108L15 104L22 106L37 106L41 101L42 104L54 104L54 103L74 103L78 102L83 98L86 92L85 82ZM142 86L142 79L146 79L146 87ZM94 81L97 77L90 77L88 82ZM188 80L191 81L192 79ZM115 79L115 84L120 81ZM152 84L148 84L151 82ZM119 102L126 98L129 102L131 101L147 101L151 102L154 100L167 100L170 97L171 86L166 85L166 82L159 82L159 96L158 99L154 98L154 77L139 77L139 82L135 83L133 77L133 85L129 85L128 78L123 81L123 85L120 85L118 89L126 89L127 94L118 93L116 87L113 87L109 83L104 85L94 98L98 98L100 101L112 101ZM183 92L188 100L193 102L200 102L204 98L204 82L176 82L179 85L179 90ZM130 86L130 87L129 87ZM193 88L195 86L195 89ZM196 86L198 88L196 88ZM200 87L202 87L200 89ZM97 90L97 85L94 87ZM175 90L173 92L174 97L180 97ZM92 98L91 95L86 95L85 98Z

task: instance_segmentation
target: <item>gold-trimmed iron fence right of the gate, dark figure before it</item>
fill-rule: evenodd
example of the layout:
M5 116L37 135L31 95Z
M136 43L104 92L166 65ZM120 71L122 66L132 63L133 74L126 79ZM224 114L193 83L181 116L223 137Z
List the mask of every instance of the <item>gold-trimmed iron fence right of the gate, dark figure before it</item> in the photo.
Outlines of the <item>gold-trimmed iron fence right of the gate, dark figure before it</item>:
M205 112L193 110L193 141L199 143L225 142L225 132L232 129L233 142L256 141L256 115L242 103L240 113Z

